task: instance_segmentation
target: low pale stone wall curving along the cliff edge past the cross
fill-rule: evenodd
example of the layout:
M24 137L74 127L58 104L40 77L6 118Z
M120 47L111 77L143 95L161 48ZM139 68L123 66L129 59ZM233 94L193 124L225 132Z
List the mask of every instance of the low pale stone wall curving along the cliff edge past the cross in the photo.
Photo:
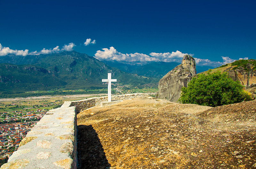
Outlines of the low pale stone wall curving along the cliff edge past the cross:
M112 96L112 101L148 97L144 93ZM76 113L100 106L108 97L66 101L52 109L28 132L1 169L76 169Z

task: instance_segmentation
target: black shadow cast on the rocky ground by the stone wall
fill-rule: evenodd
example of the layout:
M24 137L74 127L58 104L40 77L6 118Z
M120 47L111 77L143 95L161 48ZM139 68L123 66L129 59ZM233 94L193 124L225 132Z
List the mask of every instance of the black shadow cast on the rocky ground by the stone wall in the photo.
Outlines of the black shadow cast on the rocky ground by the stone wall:
M98 134L92 125L77 126L78 169L110 167Z

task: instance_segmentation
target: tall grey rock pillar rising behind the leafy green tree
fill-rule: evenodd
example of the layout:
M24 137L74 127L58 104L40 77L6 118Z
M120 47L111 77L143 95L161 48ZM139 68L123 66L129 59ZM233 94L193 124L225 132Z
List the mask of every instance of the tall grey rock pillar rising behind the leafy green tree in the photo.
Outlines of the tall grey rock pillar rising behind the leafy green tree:
M177 102L180 98L180 89L187 87L193 75L196 75L195 59L190 55L184 55L181 64L160 79L156 98Z

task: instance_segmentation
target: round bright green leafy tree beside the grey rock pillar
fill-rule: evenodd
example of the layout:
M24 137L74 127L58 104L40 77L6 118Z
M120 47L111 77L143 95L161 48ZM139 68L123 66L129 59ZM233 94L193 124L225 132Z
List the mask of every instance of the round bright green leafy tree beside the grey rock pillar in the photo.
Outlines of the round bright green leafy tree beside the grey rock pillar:
M211 71L193 77L187 88L181 88L179 101L216 107L252 100L250 93L243 90L244 86L229 78L226 72Z

